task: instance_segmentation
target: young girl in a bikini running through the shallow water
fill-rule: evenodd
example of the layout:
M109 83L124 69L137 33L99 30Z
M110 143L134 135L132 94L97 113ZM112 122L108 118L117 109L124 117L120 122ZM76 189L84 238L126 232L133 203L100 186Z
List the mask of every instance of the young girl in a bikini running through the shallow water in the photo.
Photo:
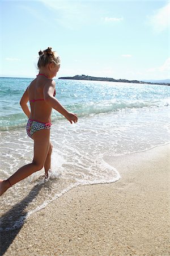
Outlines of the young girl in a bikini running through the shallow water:
M33 172L45 169L45 176L48 177L48 170L51 164L52 143L50 142L50 127L52 108L65 116L70 123L76 123L78 118L76 114L68 112L54 97L56 95L56 82L53 79L56 76L60 60L52 48L39 52L39 75L31 82L25 90L20 105L23 112L27 115L27 134L34 141L34 156L32 163L19 168L7 180L0 180L0 195L8 188L20 180L25 179ZM27 102L31 106L29 111Z

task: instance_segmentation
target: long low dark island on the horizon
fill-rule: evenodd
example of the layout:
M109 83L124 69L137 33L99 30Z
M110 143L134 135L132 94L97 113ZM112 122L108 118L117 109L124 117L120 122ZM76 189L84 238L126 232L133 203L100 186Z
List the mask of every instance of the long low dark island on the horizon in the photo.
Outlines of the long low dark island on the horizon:
M71 79L71 80L92 80L92 81L107 81L107 82L132 82L135 84L162 84L162 85L170 85L169 83L165 82L145 82L145 81L138 81L138 80L126 80L126 79L112 79L109 77L94 77L94 76L86 76L86 75L76 75L76 76L66 76L66 77L59 77L58 79Z

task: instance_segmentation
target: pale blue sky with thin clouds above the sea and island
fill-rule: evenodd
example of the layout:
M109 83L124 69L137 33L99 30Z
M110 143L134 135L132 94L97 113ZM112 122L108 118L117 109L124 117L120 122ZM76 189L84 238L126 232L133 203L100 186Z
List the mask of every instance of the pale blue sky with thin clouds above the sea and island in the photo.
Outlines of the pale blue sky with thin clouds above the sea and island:
M57 77L170 79L170 1L1 0L0 76L35 77L57 51Z

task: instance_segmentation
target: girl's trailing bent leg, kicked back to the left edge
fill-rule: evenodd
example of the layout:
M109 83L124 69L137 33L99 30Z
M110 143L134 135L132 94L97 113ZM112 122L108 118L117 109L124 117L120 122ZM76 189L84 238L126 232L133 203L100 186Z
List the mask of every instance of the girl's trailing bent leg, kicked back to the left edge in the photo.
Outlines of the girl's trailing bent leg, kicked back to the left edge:
M0 180L0 196L11 185L18 183L20 180L25 179L25 177L33 174L33 172L39 171L43 168L49 150L49 138L49 129L42 129L33 134L34 156L32 163L19 168L19 170L7 180Z

